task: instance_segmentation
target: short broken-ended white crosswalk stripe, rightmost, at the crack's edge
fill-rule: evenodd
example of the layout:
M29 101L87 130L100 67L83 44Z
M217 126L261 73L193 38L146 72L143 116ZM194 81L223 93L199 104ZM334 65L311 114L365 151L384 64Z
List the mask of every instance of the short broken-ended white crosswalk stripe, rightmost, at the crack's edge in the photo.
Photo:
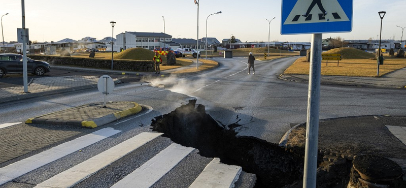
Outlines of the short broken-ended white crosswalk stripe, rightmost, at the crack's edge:
M219 158L214 158L200 175L193 181L189 188L229 188L240 177L242 168L220 163Z

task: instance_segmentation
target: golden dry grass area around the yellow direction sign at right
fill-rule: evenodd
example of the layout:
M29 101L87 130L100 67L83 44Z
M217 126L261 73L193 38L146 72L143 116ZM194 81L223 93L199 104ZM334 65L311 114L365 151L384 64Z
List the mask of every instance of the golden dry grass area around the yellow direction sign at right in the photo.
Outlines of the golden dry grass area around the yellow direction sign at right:
M384 65L379 67L380 76L406 67L406 58L388 55L384 55L384 58ZM339 61L338 67L337 61L328 61L326 64L325 60L321 62L321 75L377 77L377 60L344 59ZM283 74L309 75L309 66L306 57L300 57Z

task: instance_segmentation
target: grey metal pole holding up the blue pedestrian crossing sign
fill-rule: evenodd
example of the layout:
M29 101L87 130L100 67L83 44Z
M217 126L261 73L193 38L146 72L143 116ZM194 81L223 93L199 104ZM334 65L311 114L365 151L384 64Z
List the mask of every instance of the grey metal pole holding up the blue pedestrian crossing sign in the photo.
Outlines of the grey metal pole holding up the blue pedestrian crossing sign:
M312 35L303 188L316 187L322 37L323 34Z

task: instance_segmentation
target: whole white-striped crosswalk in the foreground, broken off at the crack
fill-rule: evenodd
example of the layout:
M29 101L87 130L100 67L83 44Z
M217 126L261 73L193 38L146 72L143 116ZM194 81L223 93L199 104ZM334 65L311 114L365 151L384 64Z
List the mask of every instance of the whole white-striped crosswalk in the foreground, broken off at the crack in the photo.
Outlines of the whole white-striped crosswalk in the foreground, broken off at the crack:
M164 147L157 146L162 141L161 133L143 132L131 137L103 152L100 152L91 158L65 169L62 172L55 172L42 182L19 182L19 178L24 176L35 176L30 173L36 169L63 158L75 151L81 150L91 144L109 138L120 133L119 130L105 128L77 138L75 140L60 144L51 149L30 156L24 160L0 168L0 187L12 186L13 183L28 183L32 187L252 187L255 184L255 175L242 172L239 166L230 166L220 163L220 159L202 160L202 156L196 155L198 151L195 148L185 147L170 141ZM154 149L146 149L146 145L156 144ZM159 151L157 148L162 148ZM143 152L156 152L154 154L145 154ZM150 158L145 161L128 158L132 153L141 152L139 155ZM123 159L134 160L133 163L142 163L134 166L131 172L124 173L123 177L111 177L112 181L103 183L97 178L102 175L114 176L123 172L114 172L110 168L125 169L122 166ZM196 158L198 160L195 160ZM199 160L200 159L200 160ZM192 162L192 163L191 163ZM196 167L196 164L201 166ZM201 163L201 164L200 164ZM121 165L121 167L120 167ZM119 166L119 167L116 167ZM124 170L123 170L124 171ZM177 177L179 176L190 177ZM187 172L187 174L184 174ZM36 177L30 177L36 179ZM39 177L38 179L41 179ZM106 178L109 179L109 178ZM106 180L104 179L104 180ZM244 182L247 181L247 182ZM97 182L90 184L89 182ZM89 184L86 184L89 183Z

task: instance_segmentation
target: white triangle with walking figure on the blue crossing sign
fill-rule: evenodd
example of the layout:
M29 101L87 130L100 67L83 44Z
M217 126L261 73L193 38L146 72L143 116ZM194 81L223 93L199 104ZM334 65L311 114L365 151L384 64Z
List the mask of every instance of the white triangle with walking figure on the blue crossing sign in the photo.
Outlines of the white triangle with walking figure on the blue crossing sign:
M322 7L327 12L327 15L324 16L325 19L319 19L319 14L323 14L323 12L320 10L319 4L315 4L316 2L321 2ZM306 15L306 12L308 11L312 3L314 4L314 6L309 13L309 15L312 15L312 19L306 20L307 17L304 17L302 15ZM339 15L340 18L334 18L332 13ZM299 16L298 19L297 16ZM299 23L321 23L349 20L350 19L348 19L347 14L344 12L343 8L341 8L341 5L337 0L298 0L283 24L288 25Z

